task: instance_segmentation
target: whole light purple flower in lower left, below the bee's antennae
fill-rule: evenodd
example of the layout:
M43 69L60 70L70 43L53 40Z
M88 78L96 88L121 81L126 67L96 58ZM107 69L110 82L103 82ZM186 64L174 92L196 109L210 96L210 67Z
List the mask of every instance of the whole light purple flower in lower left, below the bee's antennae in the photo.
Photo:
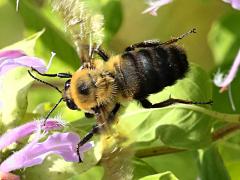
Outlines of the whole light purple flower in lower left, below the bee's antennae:
M25 126L25 127L24 127ZM56 129L60 127L59 122L48 121L46 123L47 129ZM11 144L13 141L22 138L23 136L29 135L31 132L36 131L33 140L23 147L21 150L15 152L13 155L8 157L0 165L1 172L10 172L20 168L31 167L34 165L41 164L46 156L50 154L58 154L64 158L65 161L78 162L78 155L76 153L77 144L80 138L75 133L55 133L49 135L48 138L40 142L40 140L47 135L47 133L41 134L41 123L36 124L27 123L11 132L6 133L1 137L0 141L6 141L0 144ZM26 131L26 132L25 132ZM17 138L15 137L17 136ZM7 138L11 139L8 140ZM80 148L80 156L83 159L83 153L93 147L93 143L89 142L84 144Z

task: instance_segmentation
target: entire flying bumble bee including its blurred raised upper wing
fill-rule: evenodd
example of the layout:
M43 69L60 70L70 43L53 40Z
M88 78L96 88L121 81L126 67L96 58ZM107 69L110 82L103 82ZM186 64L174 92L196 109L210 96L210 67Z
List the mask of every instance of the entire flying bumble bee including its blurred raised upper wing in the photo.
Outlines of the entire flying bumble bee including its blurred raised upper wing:
M102 26L96 26L96 21L101 24L101 16L91 16L83 4L79 6L77 0L71 0L71 3L69 0L57 2L56 9L64 16L83 65L73 74L42 74L33 69L42 76L67 78L63 91L36 78L31 71L28 72L36 80L62 93L62 98L46 119L61 101L65 101L67 107L72 110L82 110L87 116L96 117L96 125L78 144L80 162L79 147L89 141L95 133L110 129L116 122L121 104L125 101L136 100L144 108L161 108L174 103L211 103L169 98L152 104L147 100L150 94L160 92L185 77L189 71L187 56L175 43L186 35L195 33L195 29L166 42L148 40L136 43L125 48L122 54L109 57L100 48ZM70 5L66 6L66 3ZM100 58L94 58L95 54Z

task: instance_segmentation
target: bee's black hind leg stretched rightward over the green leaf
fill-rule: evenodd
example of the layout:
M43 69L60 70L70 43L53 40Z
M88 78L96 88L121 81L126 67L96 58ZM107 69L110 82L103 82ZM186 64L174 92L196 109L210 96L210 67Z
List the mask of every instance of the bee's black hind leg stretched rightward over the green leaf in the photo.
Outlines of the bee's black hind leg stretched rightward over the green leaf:
M181 103L181 104L212 104L213 101L206 101L206 102L194 102L194 101L187 101L183 99L174 99L174 98L169 98L168 100L162 101L160 103L152 104L150 101L147 99L141 99L140 103L144 108L162 108L166 106L170 106L176 103Z

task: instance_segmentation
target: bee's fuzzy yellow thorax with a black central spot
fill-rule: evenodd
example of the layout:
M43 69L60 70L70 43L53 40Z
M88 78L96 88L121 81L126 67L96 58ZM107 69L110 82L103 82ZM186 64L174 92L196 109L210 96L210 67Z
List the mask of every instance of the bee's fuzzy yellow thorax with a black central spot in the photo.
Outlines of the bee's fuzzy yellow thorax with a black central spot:
M96 69L78 70L68 83L65 87L68 86L66 97L71 100L70 104L90 113L111 101L115 92L114 78Z

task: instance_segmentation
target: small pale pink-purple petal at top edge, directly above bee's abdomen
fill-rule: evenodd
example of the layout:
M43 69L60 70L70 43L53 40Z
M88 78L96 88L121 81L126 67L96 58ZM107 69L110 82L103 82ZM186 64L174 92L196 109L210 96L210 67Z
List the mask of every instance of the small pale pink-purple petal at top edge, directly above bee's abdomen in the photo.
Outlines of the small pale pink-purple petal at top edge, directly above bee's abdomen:
M157 16L157 10L170 2L172 2L172 0L147 0L149 7L142 13L150 13L153 16Z

